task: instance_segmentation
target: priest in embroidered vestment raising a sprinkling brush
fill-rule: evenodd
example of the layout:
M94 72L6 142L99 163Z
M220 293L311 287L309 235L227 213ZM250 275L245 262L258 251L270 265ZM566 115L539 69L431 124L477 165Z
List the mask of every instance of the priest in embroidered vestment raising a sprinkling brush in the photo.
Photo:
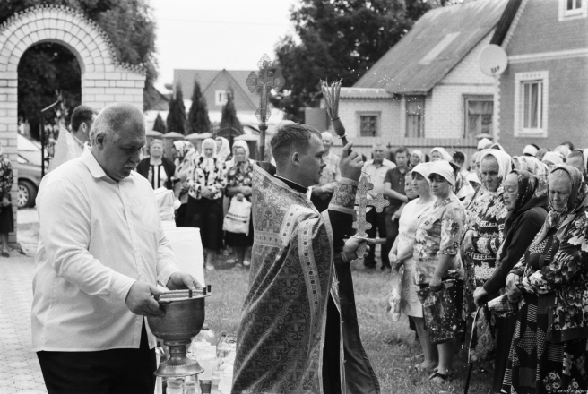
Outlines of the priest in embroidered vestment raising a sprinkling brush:
M255 165L254 247L238 329L233 394L379 393L359 338L350 260L361 162L342 152L328 210L307 197L324 168L321 134L283 124L272 138L276 167Z

